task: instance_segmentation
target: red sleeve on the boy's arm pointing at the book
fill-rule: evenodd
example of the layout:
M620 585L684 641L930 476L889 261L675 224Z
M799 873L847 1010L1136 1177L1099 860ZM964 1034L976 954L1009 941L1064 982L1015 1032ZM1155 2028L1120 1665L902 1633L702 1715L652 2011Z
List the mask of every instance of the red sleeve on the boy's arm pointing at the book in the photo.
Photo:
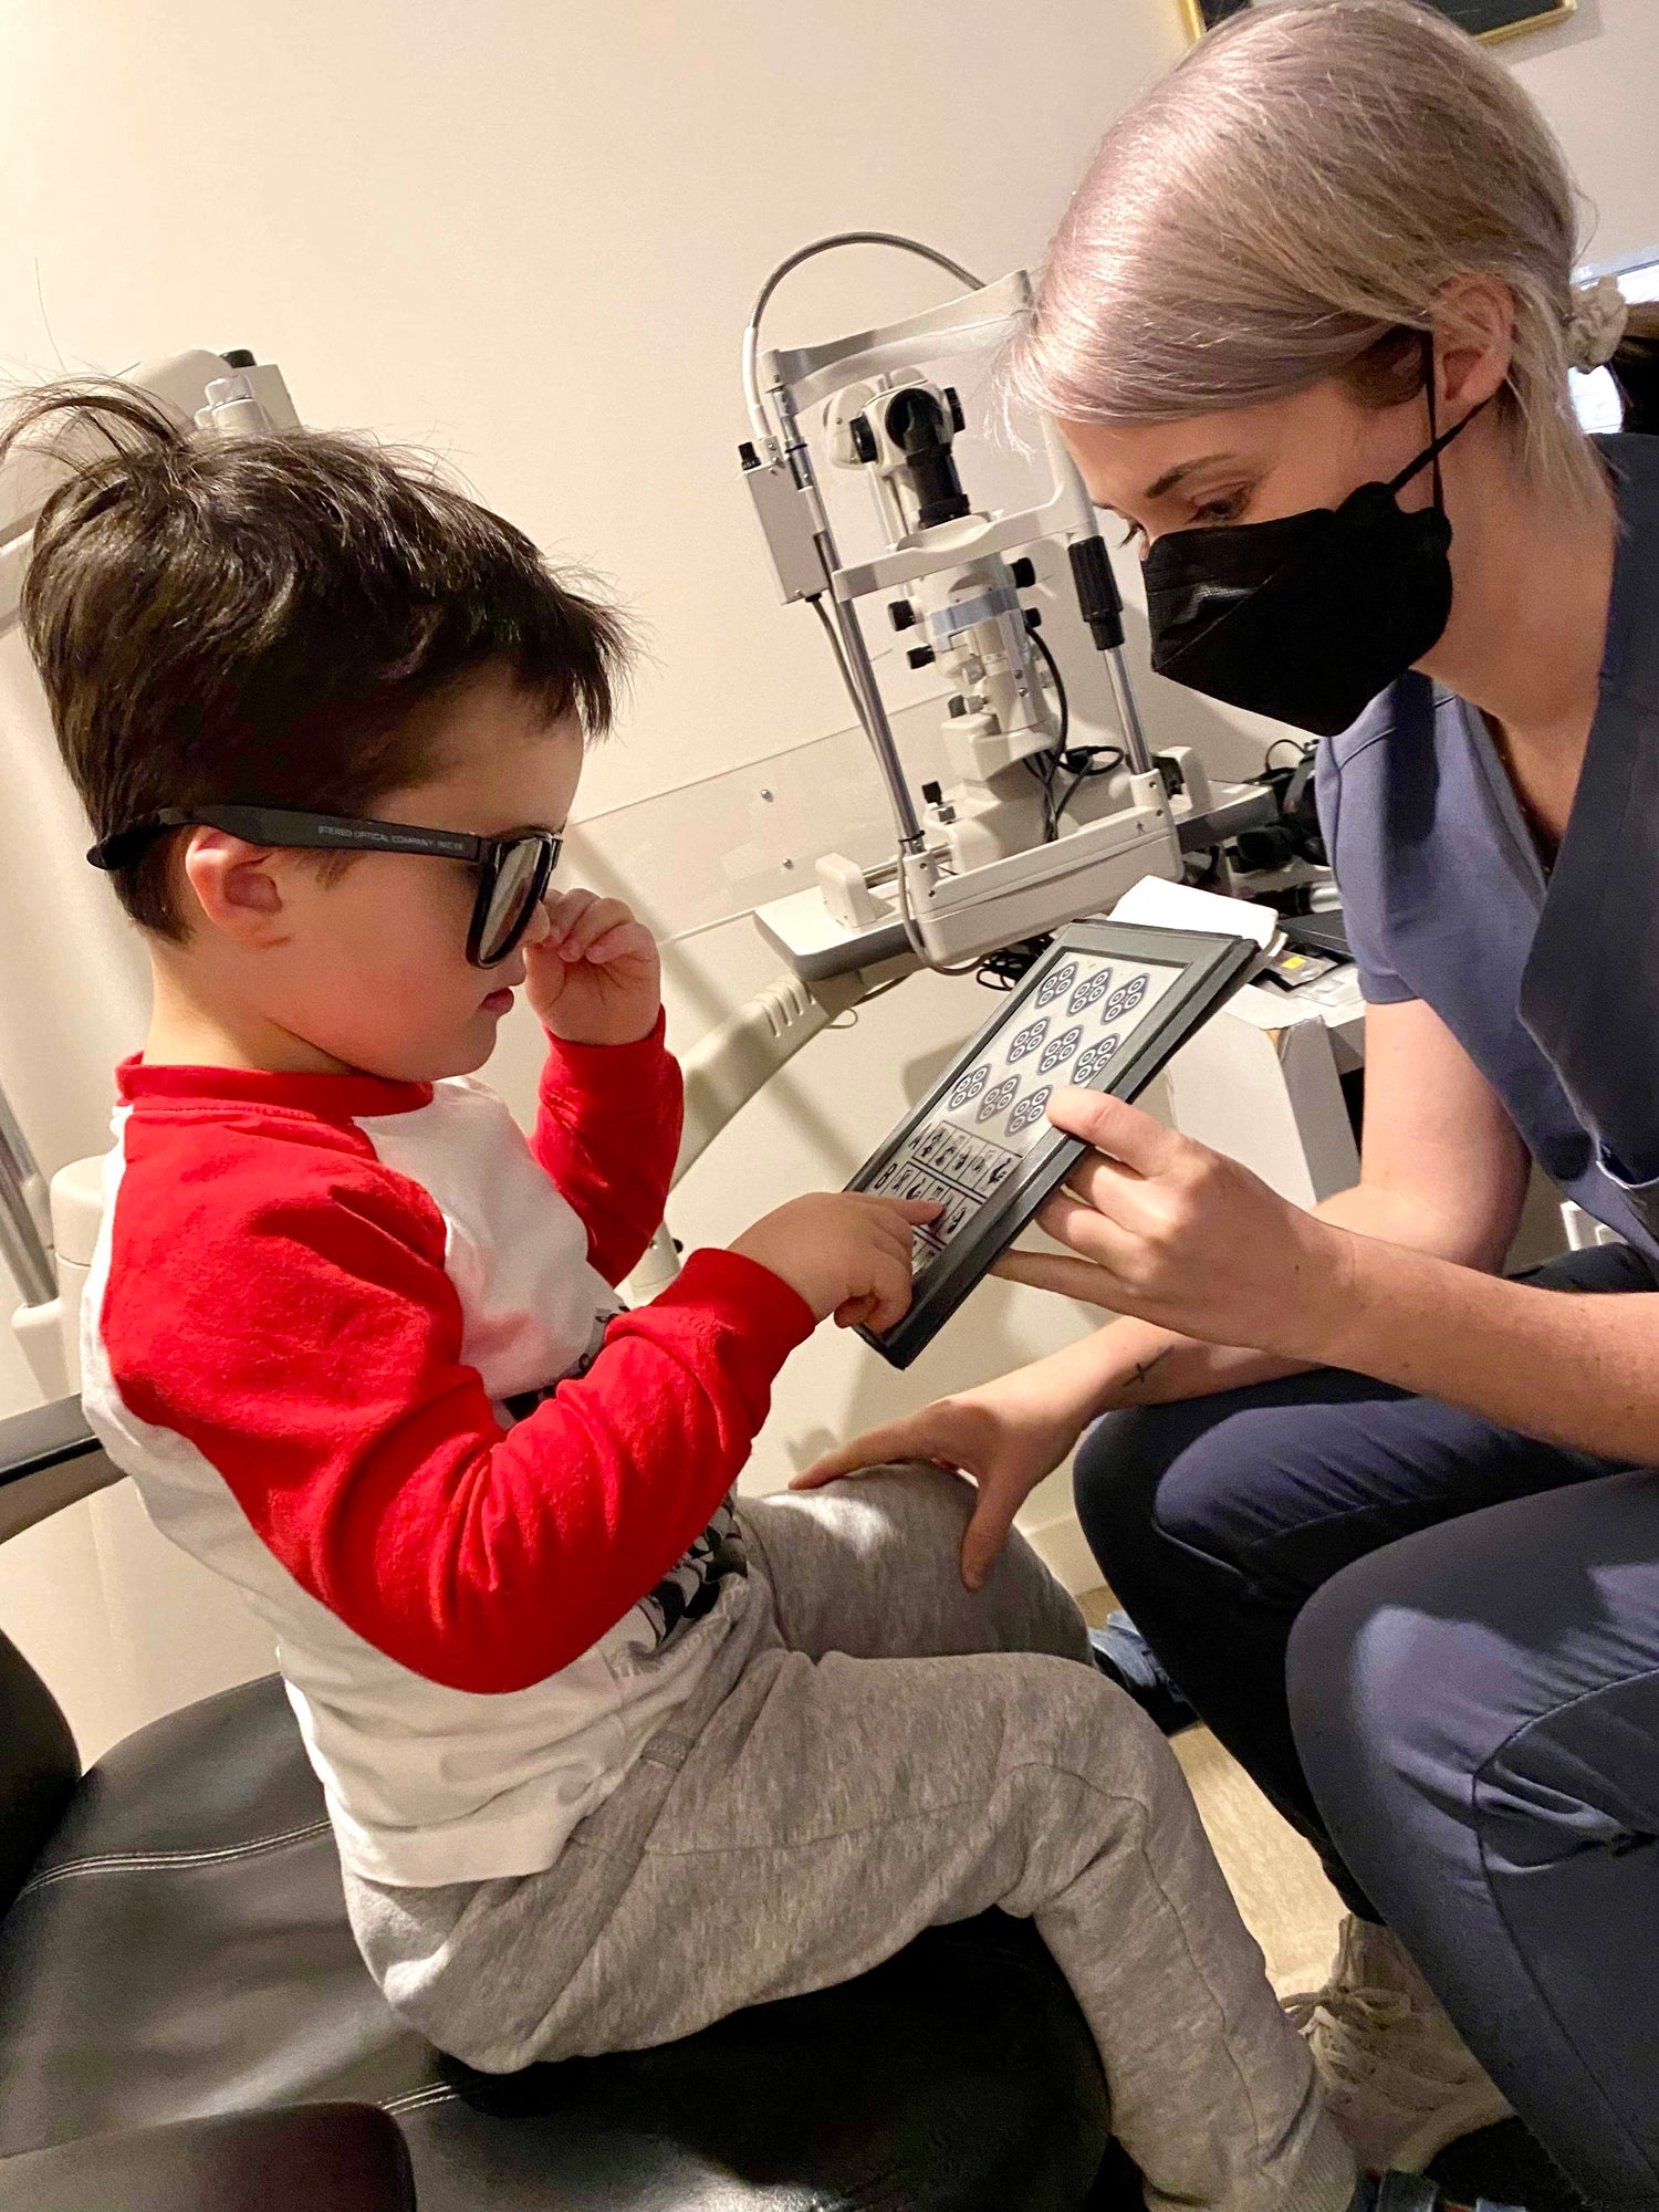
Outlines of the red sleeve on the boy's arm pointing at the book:
M542 1681L708 1526L812 1314L697 1252L586 1376L502 1429L460 1358L445 1228L354 1130L128 1124L102 1329L338 1619L456 1690Z

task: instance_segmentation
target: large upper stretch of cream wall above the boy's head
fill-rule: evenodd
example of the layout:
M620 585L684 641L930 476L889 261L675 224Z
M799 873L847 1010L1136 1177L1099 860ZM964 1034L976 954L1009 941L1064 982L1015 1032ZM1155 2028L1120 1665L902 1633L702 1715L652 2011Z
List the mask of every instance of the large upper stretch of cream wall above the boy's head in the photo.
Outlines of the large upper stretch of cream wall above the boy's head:
M650 626L615 803L843 719L734 465L772 261L847 223L1031 259L1179 44L1172 0L13 0L0 354L252 345L310 420L456 456ZM940 296L858 254L776 336Z

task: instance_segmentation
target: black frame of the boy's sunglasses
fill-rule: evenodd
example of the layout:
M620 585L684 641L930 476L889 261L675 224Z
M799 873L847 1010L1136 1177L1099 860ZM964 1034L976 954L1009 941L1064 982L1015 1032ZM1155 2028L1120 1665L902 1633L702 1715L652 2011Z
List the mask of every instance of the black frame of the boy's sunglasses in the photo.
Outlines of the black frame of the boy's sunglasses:
M500 967L518 949L531 918L542 902L549 878L557 867L564 838L553 830L518 830L511 836L469 836L465 830L422 830L416 823L380 823L354 814L312 814L303 807L164 807L142 823L128 823L102 843L93 845L86 858L93 867L131 867L144 849L173 830L223 830L228 836L248 838L250 845L281 845L296 852L411 852L434 860L465 860L478 869L478 896L473 898L471 922L467 925L467 960L473 967ZM491 929L491 914L502 883L513 880L513 863L524 847L535 847L529 878L515 889L524 900L513 916L500 949L498 929Z

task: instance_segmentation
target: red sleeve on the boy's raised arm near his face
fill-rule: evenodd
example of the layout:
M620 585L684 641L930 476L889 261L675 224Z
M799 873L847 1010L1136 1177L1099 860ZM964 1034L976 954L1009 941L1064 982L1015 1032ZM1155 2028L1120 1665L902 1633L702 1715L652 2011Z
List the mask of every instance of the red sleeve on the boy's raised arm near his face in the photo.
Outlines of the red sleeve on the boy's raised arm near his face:
M639 1044L546 1040L531 1150L582 1217L606 1283L639 1265L679 1157L679 1062L661 1040L661 1013Z

